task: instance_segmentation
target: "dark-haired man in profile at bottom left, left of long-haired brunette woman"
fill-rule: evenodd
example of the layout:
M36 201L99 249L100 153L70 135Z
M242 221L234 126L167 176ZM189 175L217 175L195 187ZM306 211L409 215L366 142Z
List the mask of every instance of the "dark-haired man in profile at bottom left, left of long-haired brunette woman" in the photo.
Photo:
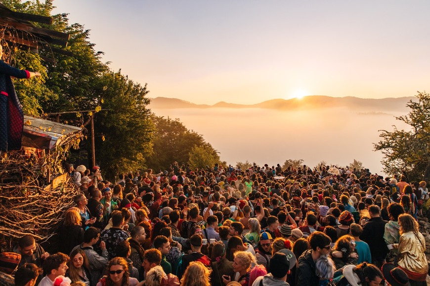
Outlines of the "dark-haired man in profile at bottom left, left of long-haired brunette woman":
M69 269L66 263L69 260L69 256L61 252L57 252L47 257L43 262L43 272L46 273L46 276L43 277L38 286L54 285L55 278L60 275L64 276L66 274L66 270Z

